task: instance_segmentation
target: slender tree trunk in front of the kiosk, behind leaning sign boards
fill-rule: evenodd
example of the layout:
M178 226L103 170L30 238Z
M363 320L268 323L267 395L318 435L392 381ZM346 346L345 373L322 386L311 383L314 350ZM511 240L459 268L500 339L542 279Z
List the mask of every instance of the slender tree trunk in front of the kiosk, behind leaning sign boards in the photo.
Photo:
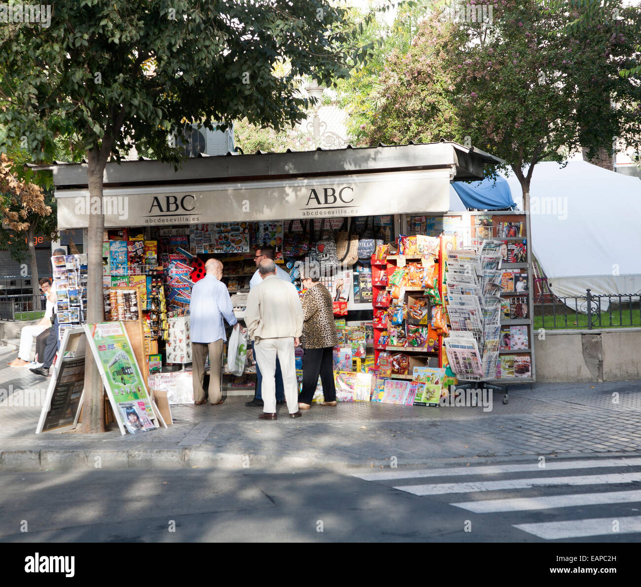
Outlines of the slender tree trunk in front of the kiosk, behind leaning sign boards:
M103 307L103 173L106 157L99 150L87 152L87 182L89 187L89 229L87 236L87 323L104 320ZM96 200L96 198L98 198ZM94 202L99 202L99 214ZM103 382L94 360L87 348L85 360L85 398L83 401L83 432L104 432Z

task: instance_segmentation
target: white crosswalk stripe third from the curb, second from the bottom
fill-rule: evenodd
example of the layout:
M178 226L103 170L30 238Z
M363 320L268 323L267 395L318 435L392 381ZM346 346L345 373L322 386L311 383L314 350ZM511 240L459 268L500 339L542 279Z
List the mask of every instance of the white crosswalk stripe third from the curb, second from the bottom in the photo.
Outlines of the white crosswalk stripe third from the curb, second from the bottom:
M594 506L597 504L641 502L641 490L613 491L603 494L549 495L542 497L520 497L519 499L485 499L452 503L451 506L463 508L474 513L495 513L498 511L551 510L553 508L572 508L574 506Z

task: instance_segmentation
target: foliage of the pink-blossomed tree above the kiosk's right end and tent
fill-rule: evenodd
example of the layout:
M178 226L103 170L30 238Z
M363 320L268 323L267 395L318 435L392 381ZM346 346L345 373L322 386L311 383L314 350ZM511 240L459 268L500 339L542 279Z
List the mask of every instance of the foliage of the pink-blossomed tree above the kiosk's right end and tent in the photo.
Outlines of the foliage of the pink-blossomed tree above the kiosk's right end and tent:
M491 4L491 22L436 12L420 24L383 69L367 141L474 145L507 162L527 202L538 161L641 136L639 86L618 74L633 41L617 22L566 31L566 15L536 0Z

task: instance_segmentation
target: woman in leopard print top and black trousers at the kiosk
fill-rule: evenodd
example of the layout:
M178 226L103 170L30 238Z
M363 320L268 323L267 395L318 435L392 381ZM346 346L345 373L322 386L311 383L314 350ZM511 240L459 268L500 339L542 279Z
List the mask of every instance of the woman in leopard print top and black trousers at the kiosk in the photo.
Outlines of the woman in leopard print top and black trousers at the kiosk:
M303 278L307 289L303 296L303 390L298 396L298 407L308 410L320 375L324 396L324 406L335 406L336 388L334 386L333 349L338 344L334 308L327 287L318 277Z

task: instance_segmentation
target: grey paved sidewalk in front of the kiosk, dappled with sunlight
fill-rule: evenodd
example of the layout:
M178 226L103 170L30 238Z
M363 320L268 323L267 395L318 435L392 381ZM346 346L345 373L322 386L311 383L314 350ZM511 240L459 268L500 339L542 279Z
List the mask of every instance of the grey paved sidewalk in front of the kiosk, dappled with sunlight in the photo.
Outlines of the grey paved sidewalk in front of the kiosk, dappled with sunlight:
M313 405L290 419L260 421L246 397L220 406L172 406L174 425L122 436L35 434L40 406L9 405L15 390L46 390L49 380L11 369L0 347L0 469L167 467L388 467L492 462L548 456L641 454L641 382L537 383L495 393L482 406ZM4 391L3 391L4 390ZM44 393L42 397L44 398ZM14 396L15 397L15 396ZM0 397L0 400L2 397Z

